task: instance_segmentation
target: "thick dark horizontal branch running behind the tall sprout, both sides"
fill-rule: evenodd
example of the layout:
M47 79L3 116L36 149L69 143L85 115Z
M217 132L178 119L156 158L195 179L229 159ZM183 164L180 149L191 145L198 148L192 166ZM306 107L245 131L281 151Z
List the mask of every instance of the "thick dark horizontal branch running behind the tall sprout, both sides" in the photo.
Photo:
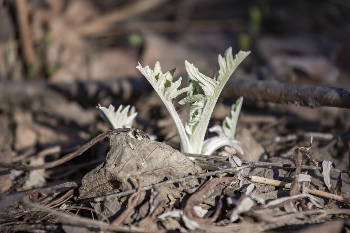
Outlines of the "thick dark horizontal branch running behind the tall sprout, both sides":
M186 86L186 83L182 83ZM56 90L56 92L55 92ZM85 98L96 90L113 95L122 95L124 100L151 92L152 86L145 78L108 80L103 82L70 83L49 85L45 82L3 82L0 85L1 102L25 102L37 98ZM243 96L251 101L294 104L317 108L322 106L350 108L350 90L335 87L292 85L276 81L229 79L221 96L224 98Z

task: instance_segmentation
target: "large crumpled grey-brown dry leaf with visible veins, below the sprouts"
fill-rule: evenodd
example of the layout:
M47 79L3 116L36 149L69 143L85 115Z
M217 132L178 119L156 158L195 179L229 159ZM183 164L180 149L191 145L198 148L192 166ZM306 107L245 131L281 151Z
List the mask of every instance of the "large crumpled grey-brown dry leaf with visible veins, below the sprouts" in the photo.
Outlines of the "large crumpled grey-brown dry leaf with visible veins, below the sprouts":
M201 171L191 160L174 148L147 138L141 139L140 136L133 137L138 139L130 137L130 133L111 136L111 148L106 162L84 176L82 187L79 190L79 199L137 188L138 184L133 182L135 179L139 179L144 186L147 186ZM184 186L168 184L156 191L164 199L167 198L167 194L179 198L184 195L184 191L193 192L191 189L196 185L198 185L198 180L191 180L187 181ZM145 192L142 192L138 204L144 198ZM122 203L118 198L110 198L103 203L91 203L91 205L107 217L113 216L122 208Z

